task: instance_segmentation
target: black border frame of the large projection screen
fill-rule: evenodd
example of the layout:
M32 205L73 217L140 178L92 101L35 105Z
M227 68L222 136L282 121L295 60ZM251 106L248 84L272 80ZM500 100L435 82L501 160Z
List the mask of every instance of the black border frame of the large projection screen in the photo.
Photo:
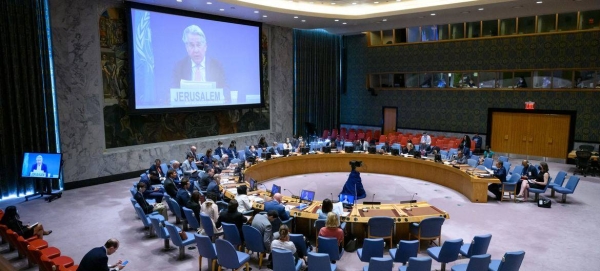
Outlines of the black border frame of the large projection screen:
M230 18L230 17L223 17L223 16L218 16L218 15L213 15L213 14L180 10L180 9L156 6L156 5L148 5L148 4L136 3L136 2L130 2L130 1L127 1L125 6L126 6L125 23L127 24L127 38L128 38L127 56L129 59L129 67L128 67L128 69L129 69L129 74L128 74L129 88L127 90L127 94L129 95L129 97L128 97L128 102L129 102L128 113L130 115L202 112L202 111L219 111L219 110L233 110L233 109L256 109L256 108L264 108L266 106L266 103L265 103L266 95L264 93L265 92L264 75L263 75L263 67L262 67L263 48L262 48L262 44L261 44L261 41L262 41L262 23L261 22L236 19L236 18ZM145 11L150 11L150 12L160 12L160 13L164 13L164 14L185 16L185 17L197 18L197 19L203 19L203 20L212 20L212 21L218 21L218 22L258 27L258 35L259 36L258 36L258 53L257 54L259 57L258 57L257 69L259 71L260 103L236 104L236 105L229 104L229 105L214 105L214 106L200 106L200 107L173 107L173 108L165 107L165 108L142 108L142 109L136 108L135 63L134 63L134 49L135 48L134 48L134 42L133 42L133 21L131 18L131 9L139 9L139 10L145 10Z

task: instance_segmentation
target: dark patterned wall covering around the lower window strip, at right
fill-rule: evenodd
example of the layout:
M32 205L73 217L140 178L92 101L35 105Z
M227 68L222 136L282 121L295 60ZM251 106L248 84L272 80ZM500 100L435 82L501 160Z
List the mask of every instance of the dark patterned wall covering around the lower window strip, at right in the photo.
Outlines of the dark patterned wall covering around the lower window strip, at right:
M365 35L349 36L348 91L341 97L341 122L379 126L383 106L398 107L398 127L486 132L487 110L524 108L576 110L575 140L600 142L600 91L403 89L367 91L369 73L600 67L600 31L456 42L367 47ZM356 114L355 112L361 112Z

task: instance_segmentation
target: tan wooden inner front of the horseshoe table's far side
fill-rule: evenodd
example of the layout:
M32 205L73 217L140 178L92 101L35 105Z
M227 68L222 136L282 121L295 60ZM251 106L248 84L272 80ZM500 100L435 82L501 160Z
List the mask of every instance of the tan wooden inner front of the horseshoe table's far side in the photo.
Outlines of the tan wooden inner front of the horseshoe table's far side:
M464 170L430 160L378 154L309 154L272 159L246 169L244 178L258 182L274 178L322 172L349 172L349 162L363 162L360 172L380 173L424 180L454 189L471 202L487 202L489 183L500 183L497 178L479 178Z

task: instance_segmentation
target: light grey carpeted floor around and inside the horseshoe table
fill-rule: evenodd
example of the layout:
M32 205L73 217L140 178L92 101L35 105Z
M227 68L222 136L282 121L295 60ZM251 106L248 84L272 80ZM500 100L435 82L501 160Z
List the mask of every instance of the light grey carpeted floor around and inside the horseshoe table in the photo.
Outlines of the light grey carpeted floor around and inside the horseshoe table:
M517 164L520 161L511 161ZM537 163L533 161L534 163ZM550 175L559 170L573 173L573 165L549 163ZM265 183L281 185L295 194L301 189L316 191L316 199L337 195L344 184L347 173L323 173L291 176ZM475 204L464 196L443 186L404 177L362 173L367 199L375 194L375 201L384 203L410 199L428 201L447 211L450 219L442 228L444 240L462 238L470 242L474 235L493 235L488 253L493 259L502 258L507 251L524 250L525 260L521 270L596 270L600 266L600 248L594 240L600 240L597 225L600 224L600 178L582 177L574 195L569 195L566 204L558 203L560 196L552 199L552 208L538 208L533 202L513 203L490 201ZM567 178L569 177L567 176ZM58 247L62 255L79 262L93 247L101 246L111 237L120 240L119 250L109 257L109 262L129 260L125 270L196 270L197 250L186 249L186 258L177 260L178 250L174 246L163 250L163 241L149 238L142 223L136 218L129 198L129 187L135 179L109 184L69 190L62 198L47 203L41 199L25 202L11 199L0 202L0 208L17 205L24 222L40 222L46 229L53 230L45 236L51 246ZM284 192L288 193L288 192ZM545 196L549 197L548 191ZM533 197L533 194L532 194ZM175 218L170 217L174 222ZM398 240L394 240L397 242ZM586 248L587 249L583 249ZM0 246L0 256L9 259L20 270L27 268L25 259L17 259L16 252L8 252L8 246ZM387 250L386 250L387 253ZM422 256L426 255L423 247ZM208 270L207 261L202 270ZM447 269L468 260L460 259ZM356 253L345 253L338 261L338 270L362 270L366 263L358 260ZM258 270L256 256L251 260L253 270ZM397 270L398 264L394 265ZM440 264L435 263L435 269ZM263 265L261 270L267 270Z

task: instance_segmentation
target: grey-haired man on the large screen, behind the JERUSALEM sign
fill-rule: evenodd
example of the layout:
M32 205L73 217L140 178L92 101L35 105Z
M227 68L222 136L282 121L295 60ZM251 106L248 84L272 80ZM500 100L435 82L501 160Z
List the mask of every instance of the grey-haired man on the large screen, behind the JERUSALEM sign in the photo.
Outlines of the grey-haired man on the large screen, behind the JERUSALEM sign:
M224 91L225 99L229 101L226 92L225 74L221 64L206 57L206 36L197 25L190 25L183 30L183 44L188 56L175 64L173 72L173 88L180 88L181 80L195 82L216 82L217 88Z

